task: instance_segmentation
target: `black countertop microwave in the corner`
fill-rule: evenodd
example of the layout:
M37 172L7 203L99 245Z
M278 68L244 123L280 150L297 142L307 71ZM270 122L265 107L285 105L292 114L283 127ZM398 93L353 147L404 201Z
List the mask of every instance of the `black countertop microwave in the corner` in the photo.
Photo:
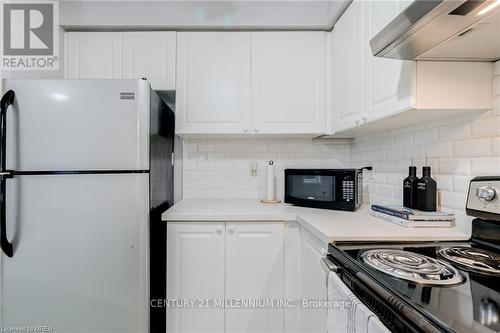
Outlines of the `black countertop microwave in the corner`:
M363 170L285 169L285 202L355 211L363 203Z

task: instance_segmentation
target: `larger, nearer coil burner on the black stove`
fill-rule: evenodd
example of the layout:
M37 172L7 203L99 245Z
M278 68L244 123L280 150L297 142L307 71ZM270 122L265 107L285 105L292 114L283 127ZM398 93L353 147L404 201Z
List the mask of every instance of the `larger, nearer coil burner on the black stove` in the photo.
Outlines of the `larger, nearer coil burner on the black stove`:
M463 276L450 264L418 253L375 249L364 252L361 259L385 274L423 285L453 285Z

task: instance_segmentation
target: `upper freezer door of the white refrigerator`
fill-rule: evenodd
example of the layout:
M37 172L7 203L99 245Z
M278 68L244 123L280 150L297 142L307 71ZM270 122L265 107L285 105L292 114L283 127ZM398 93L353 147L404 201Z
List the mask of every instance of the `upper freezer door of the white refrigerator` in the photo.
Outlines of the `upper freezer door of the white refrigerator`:
M149 168L145 80L4 80L16 102L7 112L7 168Z

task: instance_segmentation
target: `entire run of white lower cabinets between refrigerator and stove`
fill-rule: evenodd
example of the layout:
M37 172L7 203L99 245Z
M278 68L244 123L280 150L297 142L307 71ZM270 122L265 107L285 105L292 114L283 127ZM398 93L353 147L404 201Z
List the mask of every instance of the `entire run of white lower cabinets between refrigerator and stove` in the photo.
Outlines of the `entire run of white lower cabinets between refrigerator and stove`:
M326 332L328 244L299 224L168 222L167 232L167 299L195 301L167 309L167 333Z

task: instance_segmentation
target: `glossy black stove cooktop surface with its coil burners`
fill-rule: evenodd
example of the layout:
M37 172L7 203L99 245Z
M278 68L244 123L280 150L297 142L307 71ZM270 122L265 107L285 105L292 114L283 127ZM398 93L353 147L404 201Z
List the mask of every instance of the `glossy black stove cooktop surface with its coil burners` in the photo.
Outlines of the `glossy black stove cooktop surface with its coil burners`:
M472 242L338 247L441 326L500 332L499 256L491 249Z

